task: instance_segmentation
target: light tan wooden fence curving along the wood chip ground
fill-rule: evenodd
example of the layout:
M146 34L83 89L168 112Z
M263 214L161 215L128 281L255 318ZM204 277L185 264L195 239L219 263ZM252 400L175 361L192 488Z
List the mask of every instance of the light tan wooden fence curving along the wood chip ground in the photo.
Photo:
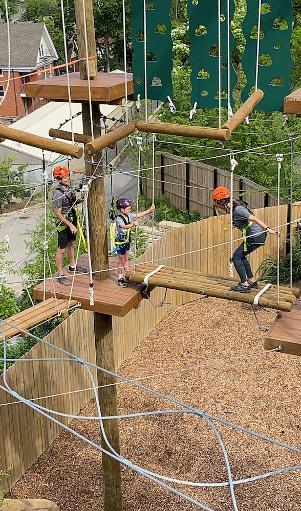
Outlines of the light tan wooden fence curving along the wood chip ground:
M267 225L275 227L283 225L281 230L280 251L286 253L287 217L286 204L278 208L273 206L255 211ZM301 202L293 205L292 219L301 217ZM224 217L225 224L229 223L229 216ZM225 232L217 217L207 218L199 222L184 225L170 230L157 243L147 250L138 260L137 264L155 262L187 268L191 271L228 275L229 270L229 231ZM241 233L234 230L234 248L241 242ZM259 267L266 254L276 255L276 236L267 236L264 247L251 254L250 260L253 269ZM116 287L116 292L118 289ZM156 288L150 294L154 305L164 299L165 290ZM168 309L175 305L199 298L198 294L183 291L168 290L163 307L155 308L148 299L142 300L138 309L133 309L125 317L113 317L113 334L115 345L115 366L119 367L131 355L139 343L148 335L150 330L164 317ZM217 304L218 306L218 304ZM202 303L200 303L200 318ZM94 324L93 313L77 310L63 323L61 323L47 340L58 347L62 347L74 355L95 363ZM160 350L160 345L158 345ZM23 357L28 358L60 358L65 357L57 350L39 342ZM94 378L96 373L92 370ZM42 398L38 403L50 409L67 414L77 414L82 405L93 397L91 382L87 371L81 364L69 361L24 361L16 362L7 370L7 381L10 387L27 399ZM0 377L3 386L3 376ZM77 390L80 390L77 392ZM57 394L57 395L55 395ZM58 418L64 424L67 419ZM0 469L13 467L11 477L7 481L7 489L26 472L38 459L61 431L46 417L32 410L28 406L16 402L4 390L0 389Z

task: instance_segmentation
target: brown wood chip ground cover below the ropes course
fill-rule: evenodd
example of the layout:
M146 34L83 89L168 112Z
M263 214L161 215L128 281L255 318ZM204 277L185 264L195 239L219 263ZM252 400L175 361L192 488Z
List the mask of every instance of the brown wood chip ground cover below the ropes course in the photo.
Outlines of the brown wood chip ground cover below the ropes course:
M258 309L269 327L275 311ZM264 352L264 333L250 306L204 298L171 309L118 372L213 416L301 448L301 358ZM254 355L257 354L257 355ZM127 383L118 385L119 413L180 408ZM96 415L91 401L81 410ZM214 421L233 480L301 464L300 455ZM100 444L96 421L71 426ZM228 480L216 435L192 414L120 421L121 454L150 471L181 480ZM301 471L235 485L239 511L301 510ZM214 511L230 511L229 487L177 490ZM124 511L198 509L140 474L122 467ZM10 498L47 498L63 511L102 510L101 454L63 431L10 492Z

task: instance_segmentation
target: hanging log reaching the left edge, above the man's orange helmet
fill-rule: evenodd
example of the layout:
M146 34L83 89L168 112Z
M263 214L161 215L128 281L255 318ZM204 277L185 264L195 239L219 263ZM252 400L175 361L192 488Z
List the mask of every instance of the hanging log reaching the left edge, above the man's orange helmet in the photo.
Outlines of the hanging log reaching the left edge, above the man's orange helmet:
M82 148L79 146L73 146L72 144L52 140L52 138L45 138L32 133L26 133L25 131L18 129L7 128L6 126L0 126L0 137L8 138L8 140L14 140L20 144L45 149L46 151L66 154L67 156L72 156L72 158L79 159L83 153Z

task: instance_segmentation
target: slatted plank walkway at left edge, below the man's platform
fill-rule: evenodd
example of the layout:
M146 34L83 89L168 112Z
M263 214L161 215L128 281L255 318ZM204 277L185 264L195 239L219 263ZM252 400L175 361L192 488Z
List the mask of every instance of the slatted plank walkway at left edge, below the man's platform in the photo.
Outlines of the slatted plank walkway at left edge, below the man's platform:
M48 300L42 301L40 304L33 305L25 311L18 312L18 314L6 319L6 321L13 324L14 327L2 322L5 338L8 339L9 337L18 335L20 329L28 331L41 321L45 321L63 311L67 312L68 315L68 306L74 307L76 304L77 301L75 300L72 300L69 306L69 300L55 300L55 298L49 298ZM62 314L62 316L66 316L66 314ZM0 330L0 341L3 341L2 330Z

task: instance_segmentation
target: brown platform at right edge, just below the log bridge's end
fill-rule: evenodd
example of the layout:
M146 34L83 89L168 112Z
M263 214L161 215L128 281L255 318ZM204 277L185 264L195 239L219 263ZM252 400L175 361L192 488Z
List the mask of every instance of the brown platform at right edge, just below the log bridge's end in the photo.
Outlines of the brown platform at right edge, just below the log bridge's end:
M297 298L291 312L278 314L265 336L265 349L282 345L282 353L301 355L301 298Z

